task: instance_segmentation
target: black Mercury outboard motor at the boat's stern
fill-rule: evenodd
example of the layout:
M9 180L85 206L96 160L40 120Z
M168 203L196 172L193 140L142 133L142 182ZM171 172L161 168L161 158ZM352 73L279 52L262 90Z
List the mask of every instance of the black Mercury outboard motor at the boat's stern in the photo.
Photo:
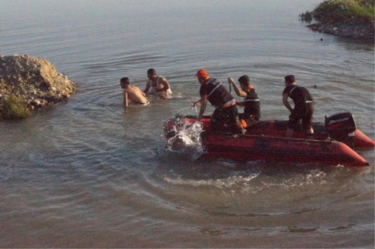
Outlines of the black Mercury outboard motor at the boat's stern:
M326 130L330 136L354 149L354 131L357 130L353 114L350 112L336 113L327 118Z

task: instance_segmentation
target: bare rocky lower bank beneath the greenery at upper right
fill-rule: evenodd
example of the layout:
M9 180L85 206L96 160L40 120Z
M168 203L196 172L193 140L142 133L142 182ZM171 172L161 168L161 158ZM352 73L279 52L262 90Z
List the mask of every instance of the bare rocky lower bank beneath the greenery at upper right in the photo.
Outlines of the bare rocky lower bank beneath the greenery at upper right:
M334 36L345 37L366 42L375 42L375 23L368 24L329 24L314 23L307 25L313 31L332 34Z

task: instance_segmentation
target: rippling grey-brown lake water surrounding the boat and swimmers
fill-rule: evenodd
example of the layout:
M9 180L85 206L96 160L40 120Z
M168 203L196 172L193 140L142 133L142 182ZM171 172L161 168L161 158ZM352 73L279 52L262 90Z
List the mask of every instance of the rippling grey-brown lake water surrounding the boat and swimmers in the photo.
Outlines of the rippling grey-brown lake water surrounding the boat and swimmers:
M288 118L294 74L315 121L350 111L374 140L375 45L306 28L319 2L1 1L0 54L47 58L80 90L0 122L0 248L374 248L375 150L353 169L164 148L163 122L195 114L200 68L226 86L248 74L264 120ZM174 98L124 109L119 79L144 89L151 67Z

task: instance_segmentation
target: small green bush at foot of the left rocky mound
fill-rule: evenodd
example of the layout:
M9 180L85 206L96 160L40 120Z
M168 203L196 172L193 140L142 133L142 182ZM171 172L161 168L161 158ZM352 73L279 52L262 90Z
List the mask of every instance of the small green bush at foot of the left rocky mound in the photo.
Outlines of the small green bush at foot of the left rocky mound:
M24 119L31 116L27 104L20 97L9 95L0 103L0 120L1 119Z

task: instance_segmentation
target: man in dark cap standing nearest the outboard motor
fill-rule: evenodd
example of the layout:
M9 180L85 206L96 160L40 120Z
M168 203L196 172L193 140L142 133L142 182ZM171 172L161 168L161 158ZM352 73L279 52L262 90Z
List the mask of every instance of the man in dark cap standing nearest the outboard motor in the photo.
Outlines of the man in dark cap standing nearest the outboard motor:
M282 102L291 112L285 137L290 138L293 136L294 128L302 119L302 126L306 129L308 138L313 139L312 116L314 114L314 100L308 89L296 84L296 79L293 75L287 75L284 79L285 89L282 92ZM293 109L288 102L288 97L294 102Z

